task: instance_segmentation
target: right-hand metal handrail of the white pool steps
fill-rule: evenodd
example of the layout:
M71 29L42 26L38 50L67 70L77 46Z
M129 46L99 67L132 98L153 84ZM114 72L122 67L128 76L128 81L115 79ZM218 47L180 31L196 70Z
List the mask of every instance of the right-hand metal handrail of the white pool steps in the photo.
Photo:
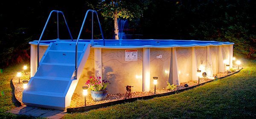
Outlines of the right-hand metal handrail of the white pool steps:
M77 79L77 62L78 62L78 61L77 61L77 45L78 45L78 42L79 42L79 38L80 38L80 36L81 36L81 32L82 32L82 30L83 30L83 28L84 28L84 23L85 23L85 20L86 20L86 18L87 18L87 14L88 14L89 12L92 12L92 40L91 40L91 41L93 42L93 13L95 13L96 16L97 16L97 19L98 19L100 32L101 32L101 34L102 34L103 45L105 45L105 39L104 39L104 36L103 36L102 27L101 27L100 22L99 22L98 13L97 13L97 11L94 11L94 10L89 9L89 10L86 11L86 14L85 14L85 17L84 17L84 21L83 21L83 23L82 23L82 26L81 26L79 35L78 35L77 40L76 40L75 79Z

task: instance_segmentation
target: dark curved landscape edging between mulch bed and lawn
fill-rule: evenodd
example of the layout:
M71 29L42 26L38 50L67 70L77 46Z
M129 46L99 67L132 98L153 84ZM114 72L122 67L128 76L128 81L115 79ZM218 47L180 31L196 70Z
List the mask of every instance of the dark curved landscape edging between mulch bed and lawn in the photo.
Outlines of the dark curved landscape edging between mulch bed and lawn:
M90 106L78 107L78 108L67 108L67 113L90 111L90 110L93 110L93 109L105 108L105 107L112 106L112 105L123 104L123 103L127 103L127 102L134 102L134 101L142 100L142 99L152 99L154 97L168 96L168 95L172 95L172 94L177 94L177 93L180 93L180 92L183 92L183 91L186 91L186 90L189 90L189 89L196 88L198 86L204 85L204 84L206 84L208 82L212 82L212 81L215 81L215 80L218 80L218 79L223 79L225 77L229 77L229 76L231 76L233 74L236 74L236 73L240 72L242 69L243 68L241 67L241 69L239 69L239 71L233 72L232 74L228 74L228 75L223 76L223 77L218 77L216 79L212 79L210 81L203 82L201 84L193 85L191 87L183 88L183 89L180 89L180 90L171 91L171 92L163 93L163 94L155 94L155 95L151 95L151 96L142 96L142 97L134 97L134 98L129 98L129 99L122 99L122 100L102 103L102 104L98 104L98 105L90 105Z

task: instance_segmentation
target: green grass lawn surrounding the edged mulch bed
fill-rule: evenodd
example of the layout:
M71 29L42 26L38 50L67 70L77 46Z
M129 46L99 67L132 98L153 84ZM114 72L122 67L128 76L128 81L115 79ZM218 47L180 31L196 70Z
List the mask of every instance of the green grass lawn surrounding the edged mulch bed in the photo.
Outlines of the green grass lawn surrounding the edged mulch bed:
M244 60L238 74L179 94L114 105L64 118L256 118L256 60ZM10 79L21 66L0 74L0 119L25 118L5 113L15 108ZM32 117L27 117L32 118Z

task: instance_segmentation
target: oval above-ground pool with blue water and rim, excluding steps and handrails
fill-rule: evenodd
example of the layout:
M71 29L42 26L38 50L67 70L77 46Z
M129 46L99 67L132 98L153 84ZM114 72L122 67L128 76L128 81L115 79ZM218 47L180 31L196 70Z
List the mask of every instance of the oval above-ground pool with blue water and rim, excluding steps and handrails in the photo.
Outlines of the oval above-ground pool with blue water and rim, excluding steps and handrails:
M40 59L49 43L56 40L44 40L40 43ZM76 40L60 40L59 42ZM232 42L197 40L79 40L79 43L91 42L90 55L84 65L76 92L90 76L109 79L110 94L124 93L125 85L134 86L132 91L149 91L154 85L152 77L159 77L158 88L166 87L166 81L179 85L181 82L197 80L197 69L207 72L208 77L224 72L224 59L232 65ZM31 44L31 77L35 74L37 41ZM75 46L74 46L75 47ZM134 50L137 57L125 56ZM75 57L71 57L75 58ZM61 60L61 59L60 59Z

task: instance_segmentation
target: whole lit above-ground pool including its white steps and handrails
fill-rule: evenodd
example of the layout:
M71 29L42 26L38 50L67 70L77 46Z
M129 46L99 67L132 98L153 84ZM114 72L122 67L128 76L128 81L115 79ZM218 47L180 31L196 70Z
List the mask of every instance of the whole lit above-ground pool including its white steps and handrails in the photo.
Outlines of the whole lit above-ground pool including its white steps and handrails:
M127 85L133 86L132 92L150 91L154 87L153 77L158 77L157 88L164 88L167 82L180 85L198 80L198 76L202 77L199 70L205 77L213 78L226 66L232 67L232 42L80 40L88 12L98 19L93 10L85 14L79 40L59 40L57 35L58 40L41 41L53 12L64 17L61 11L51 11L39 40L29 42L31 79L22 99L28 106L65 110L73 93L81 93L90 76L109 80L108 93L118 94L125 93ZM64 20L67 26L65 17ZM104 39L100 23L99 28ZM73 39L68 26L67 29Z

